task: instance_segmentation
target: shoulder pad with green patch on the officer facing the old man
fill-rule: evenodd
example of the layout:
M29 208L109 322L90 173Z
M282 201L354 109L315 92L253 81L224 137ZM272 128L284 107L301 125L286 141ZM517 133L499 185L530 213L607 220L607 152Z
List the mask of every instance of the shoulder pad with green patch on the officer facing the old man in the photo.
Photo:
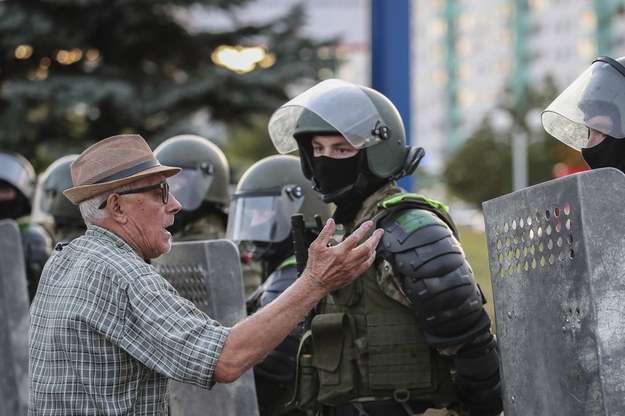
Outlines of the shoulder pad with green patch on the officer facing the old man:
M381 245L391 253L421 247L453 235L451 228L435 213L423 209L395 211L382 218L379 225L384 228Z

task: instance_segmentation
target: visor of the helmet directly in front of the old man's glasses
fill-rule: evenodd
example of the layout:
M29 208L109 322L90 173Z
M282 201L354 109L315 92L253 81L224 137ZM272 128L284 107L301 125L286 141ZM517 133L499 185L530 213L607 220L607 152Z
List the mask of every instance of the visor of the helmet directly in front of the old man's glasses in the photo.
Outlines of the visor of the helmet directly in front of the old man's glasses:
M171 166L182 167L177 175L167 179L171 194L180 202L184 211L197 209L215 179L213 166L207 163L191 167L174 163Z

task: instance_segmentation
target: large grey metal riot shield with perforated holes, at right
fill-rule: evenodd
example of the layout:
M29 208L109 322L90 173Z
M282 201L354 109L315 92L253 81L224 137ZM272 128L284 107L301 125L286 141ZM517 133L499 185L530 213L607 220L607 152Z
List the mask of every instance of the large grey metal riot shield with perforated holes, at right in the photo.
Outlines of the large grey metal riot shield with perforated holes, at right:
M506 416L625 414L625 175L483 204Z

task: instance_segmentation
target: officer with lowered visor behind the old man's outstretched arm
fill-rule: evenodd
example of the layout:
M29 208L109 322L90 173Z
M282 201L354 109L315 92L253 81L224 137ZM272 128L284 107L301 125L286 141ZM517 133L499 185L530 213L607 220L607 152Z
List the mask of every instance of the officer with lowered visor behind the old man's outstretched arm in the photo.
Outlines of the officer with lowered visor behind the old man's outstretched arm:
M227 236L250 242L255 261L263 266L263 284L248 298L248 313L273 301L298 277L291 235L291 215L304 216L303 241L317 236L321 223L331 216L330 206L302 174L299 158L274 155L253 164L241 177L230 205ZM292 403L295 358L303 334L295 329L254 367L261 416L303 415Z

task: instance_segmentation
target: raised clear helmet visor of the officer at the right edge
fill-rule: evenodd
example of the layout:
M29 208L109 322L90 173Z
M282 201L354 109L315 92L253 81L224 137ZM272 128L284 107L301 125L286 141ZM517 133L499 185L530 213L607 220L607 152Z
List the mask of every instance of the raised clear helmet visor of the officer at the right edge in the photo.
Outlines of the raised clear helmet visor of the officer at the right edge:
M542 114L547 133L577 150L586 147L589 128L625 137L625 76L613 66L618 62L601 59L605 58L593 62Z

